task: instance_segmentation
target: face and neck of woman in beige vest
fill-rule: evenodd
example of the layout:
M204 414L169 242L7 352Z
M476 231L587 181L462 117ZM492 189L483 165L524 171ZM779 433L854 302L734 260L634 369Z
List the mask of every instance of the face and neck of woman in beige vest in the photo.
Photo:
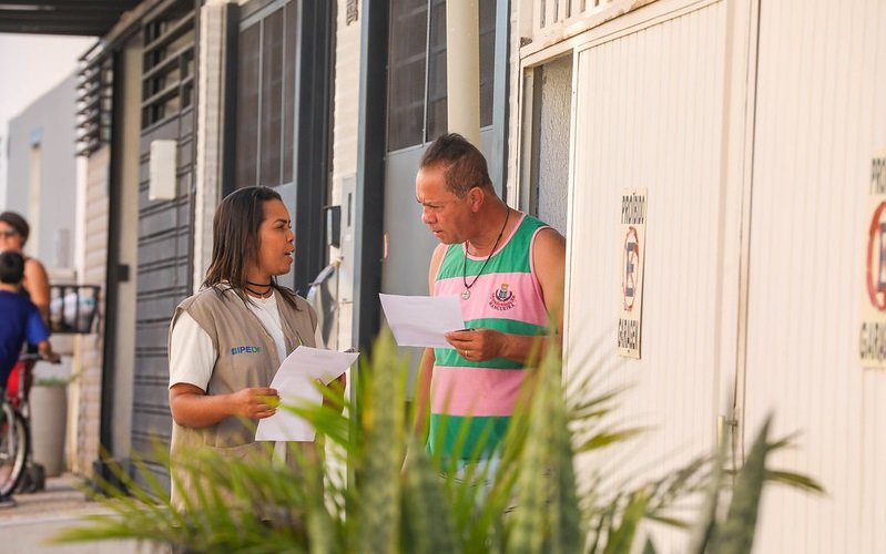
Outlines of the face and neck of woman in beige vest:
M289 273L295 252L295 234L289 220L289 212L278 199L265 201L265 219L258 228L258 259L253 267L255 283L265 283L273 275ZM262 280L255 280L256 278Z

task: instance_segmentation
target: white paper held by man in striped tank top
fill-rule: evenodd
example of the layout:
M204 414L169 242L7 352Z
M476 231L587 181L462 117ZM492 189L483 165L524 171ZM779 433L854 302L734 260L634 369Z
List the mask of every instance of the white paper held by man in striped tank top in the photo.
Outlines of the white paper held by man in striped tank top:
M457 296L378 296L399 346L452 348L444 335L465 328Z

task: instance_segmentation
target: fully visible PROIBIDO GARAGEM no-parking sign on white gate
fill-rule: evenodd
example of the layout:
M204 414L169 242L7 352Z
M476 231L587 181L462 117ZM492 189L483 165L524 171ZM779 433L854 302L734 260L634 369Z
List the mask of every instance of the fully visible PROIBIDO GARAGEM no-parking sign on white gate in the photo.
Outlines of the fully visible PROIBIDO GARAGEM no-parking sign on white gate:
M643 256L646 249L646 189L625 188L621 193L619 257L619 356L640 359L643 307Z

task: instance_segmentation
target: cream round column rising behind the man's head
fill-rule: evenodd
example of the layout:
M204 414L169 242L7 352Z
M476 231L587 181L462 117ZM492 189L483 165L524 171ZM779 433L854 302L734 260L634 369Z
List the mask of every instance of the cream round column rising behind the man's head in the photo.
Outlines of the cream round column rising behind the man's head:
M480 145L480 10L478 0L446 2L446 82L450 133Z

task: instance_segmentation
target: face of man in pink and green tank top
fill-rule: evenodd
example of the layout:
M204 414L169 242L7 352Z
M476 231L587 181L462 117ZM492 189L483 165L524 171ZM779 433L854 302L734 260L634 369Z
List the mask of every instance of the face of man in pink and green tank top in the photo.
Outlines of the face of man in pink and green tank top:
M459 198L446 188L445 167L432 166L416 175L416 202L421 205L421 223L442 244L459 244L470 225L470 195Z

